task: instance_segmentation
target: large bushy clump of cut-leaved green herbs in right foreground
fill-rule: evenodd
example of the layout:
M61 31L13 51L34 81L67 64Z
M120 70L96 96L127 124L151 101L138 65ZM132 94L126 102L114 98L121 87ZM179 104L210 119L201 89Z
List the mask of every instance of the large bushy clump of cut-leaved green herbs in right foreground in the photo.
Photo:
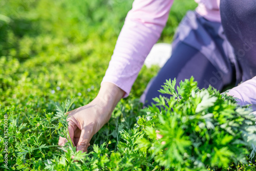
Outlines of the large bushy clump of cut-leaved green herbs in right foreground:
M160 92L173 96L154 98L156 104L138 120L147 135L139 140L145 153L175 170L228 167L246 163L247 154L254 157L256 119L250 108L212 87L199 90L193 77L181 81L177 90L175 85L175 79L166 80Z

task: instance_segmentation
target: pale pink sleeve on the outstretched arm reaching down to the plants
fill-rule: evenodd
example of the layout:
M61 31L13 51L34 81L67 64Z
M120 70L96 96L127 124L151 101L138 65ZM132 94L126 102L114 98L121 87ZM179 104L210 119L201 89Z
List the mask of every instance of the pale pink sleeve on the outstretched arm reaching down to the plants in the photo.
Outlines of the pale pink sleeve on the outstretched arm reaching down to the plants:
M114 53L101 83L112 82L127 97L167 22L173 0L135 0L125 18Z

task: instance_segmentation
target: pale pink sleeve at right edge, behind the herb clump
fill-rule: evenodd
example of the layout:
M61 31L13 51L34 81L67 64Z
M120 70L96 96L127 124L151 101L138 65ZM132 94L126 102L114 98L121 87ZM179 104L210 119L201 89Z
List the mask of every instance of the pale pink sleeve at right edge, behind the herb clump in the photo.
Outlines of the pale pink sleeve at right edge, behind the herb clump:
M238 98L238 104L252 104L256 111L256 76L229 90L228 94Z

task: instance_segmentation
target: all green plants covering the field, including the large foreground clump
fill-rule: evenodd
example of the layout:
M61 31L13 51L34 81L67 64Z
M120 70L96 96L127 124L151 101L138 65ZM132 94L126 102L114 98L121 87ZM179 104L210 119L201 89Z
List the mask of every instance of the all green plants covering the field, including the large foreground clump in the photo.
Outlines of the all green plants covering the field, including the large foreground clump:
M174 96L142 109L157 66L142 68L88 153L58 146L68 109L96 97L132 2L0 1L0 170L256 170L256 120L232 97L167 81ZM159 41L196 5L175 1Z

